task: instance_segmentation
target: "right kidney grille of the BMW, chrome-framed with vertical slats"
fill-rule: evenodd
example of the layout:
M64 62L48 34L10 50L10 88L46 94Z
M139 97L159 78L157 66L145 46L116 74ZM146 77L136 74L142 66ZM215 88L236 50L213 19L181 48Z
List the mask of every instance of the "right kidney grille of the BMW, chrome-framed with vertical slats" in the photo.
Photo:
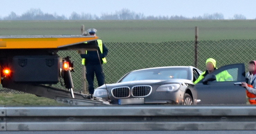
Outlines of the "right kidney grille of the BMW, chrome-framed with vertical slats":
M148 96L152 91L152 87L148 85L134 86L131 89L131 94L134 97L145 97Z

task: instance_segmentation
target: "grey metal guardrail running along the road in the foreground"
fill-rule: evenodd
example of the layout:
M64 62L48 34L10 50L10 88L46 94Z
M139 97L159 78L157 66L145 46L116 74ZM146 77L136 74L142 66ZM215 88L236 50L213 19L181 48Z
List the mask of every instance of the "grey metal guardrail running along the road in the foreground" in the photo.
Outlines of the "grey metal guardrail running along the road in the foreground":
M253 105L0 106L0 118L0 131L10 132L256 132Z

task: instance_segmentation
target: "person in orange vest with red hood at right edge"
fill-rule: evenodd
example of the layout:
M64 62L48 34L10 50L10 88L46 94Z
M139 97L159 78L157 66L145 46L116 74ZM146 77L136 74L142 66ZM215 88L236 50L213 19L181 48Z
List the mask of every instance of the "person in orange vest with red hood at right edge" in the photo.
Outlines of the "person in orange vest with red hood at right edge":
M246 95L250 104L256 104L256 61L250 61L248 64L249 72L246 73L246 81L242 82L242 86L246 88Z

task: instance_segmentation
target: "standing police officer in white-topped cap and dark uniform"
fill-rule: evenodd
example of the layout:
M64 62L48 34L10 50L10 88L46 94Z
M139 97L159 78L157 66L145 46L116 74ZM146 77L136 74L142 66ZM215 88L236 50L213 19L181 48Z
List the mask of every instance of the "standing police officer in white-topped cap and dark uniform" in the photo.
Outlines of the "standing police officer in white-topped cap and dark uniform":
M88 29L87 32L91 36L96 36L96 29ZM104 84L104 74L102 70L102 63L107 63L106 56L108 54L108 49L105 47L102 40L90 41L85 43L95 43L98 45L97 51L85 51L85 54L80 54L82 59L82 64L86 67L86 80L88 81L89 93L93 94L94 92L94 73L96 75L98 86Z

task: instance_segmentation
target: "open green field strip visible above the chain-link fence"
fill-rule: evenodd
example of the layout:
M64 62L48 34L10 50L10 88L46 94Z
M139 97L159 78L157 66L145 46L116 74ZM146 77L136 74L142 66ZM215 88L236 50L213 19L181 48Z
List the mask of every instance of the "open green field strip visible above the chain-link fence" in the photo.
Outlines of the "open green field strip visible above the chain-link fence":
M0 21L0 35L81 34L96 28L104 42L255 39L256 20Z

